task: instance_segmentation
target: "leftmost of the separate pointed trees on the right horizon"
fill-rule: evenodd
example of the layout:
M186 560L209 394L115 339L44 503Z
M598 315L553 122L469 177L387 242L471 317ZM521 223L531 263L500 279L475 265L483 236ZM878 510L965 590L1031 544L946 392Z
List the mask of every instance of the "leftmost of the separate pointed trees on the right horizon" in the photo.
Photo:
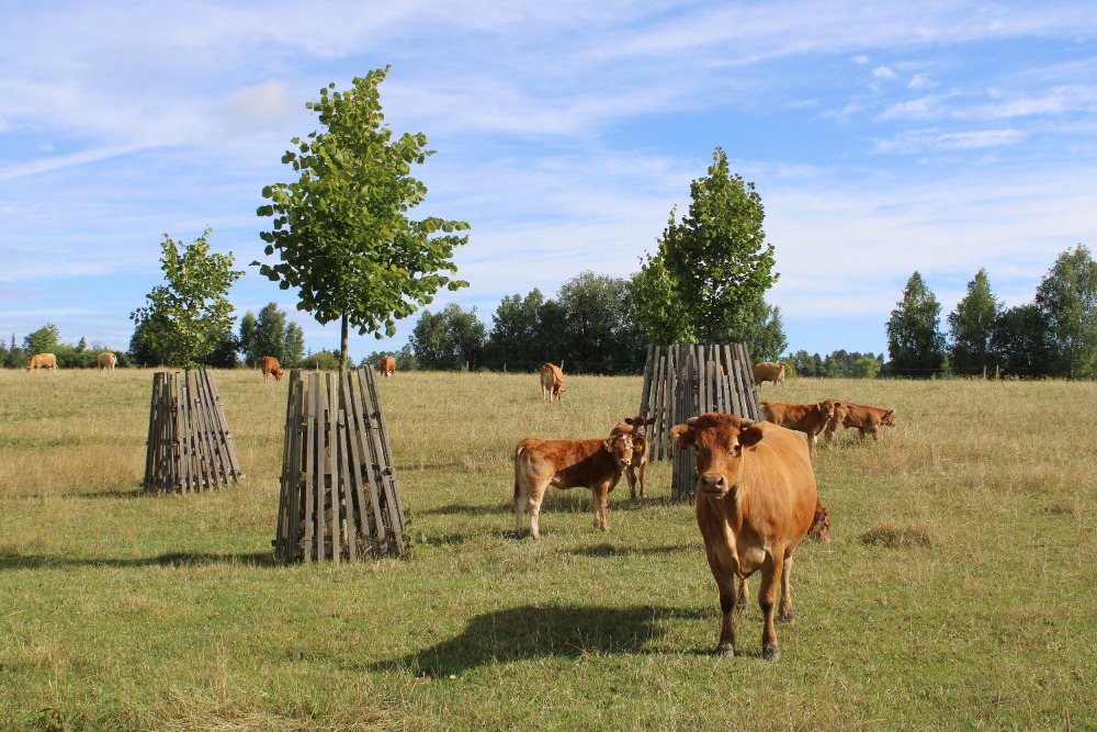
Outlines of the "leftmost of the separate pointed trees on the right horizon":
M896 376L927 379L945 365L945 336L939 328L941 305L915 272L903 300L887 320L887 354Z

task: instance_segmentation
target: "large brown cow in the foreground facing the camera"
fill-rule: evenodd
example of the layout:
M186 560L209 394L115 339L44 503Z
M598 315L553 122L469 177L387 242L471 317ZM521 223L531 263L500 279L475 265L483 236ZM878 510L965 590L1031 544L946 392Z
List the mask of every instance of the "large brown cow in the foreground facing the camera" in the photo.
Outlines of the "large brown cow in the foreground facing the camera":
M807 534L818 505L815 473L803 440L783 427L708 413L677 425L670 436L697 450L697 523L723 613L716 651L735 655L735 578L740 588L761 570L758 604L765 616L762 657L780 656L778 619L792 620L792 553Z

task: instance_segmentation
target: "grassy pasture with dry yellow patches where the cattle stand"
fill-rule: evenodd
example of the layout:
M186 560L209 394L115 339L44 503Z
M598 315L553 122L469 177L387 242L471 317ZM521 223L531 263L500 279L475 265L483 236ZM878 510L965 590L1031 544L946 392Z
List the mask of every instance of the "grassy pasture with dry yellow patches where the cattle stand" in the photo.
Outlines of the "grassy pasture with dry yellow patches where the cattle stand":
M151 374L0 371L0 729L1097 729L1097 384L792 381L894 407L815 468L796 622L711 651L719 607L666 463L648 499L551 489L513 534L514 443L598 437L638 378L382 382L407 560L280 566L285 383L217 372L248 476L144 495Z

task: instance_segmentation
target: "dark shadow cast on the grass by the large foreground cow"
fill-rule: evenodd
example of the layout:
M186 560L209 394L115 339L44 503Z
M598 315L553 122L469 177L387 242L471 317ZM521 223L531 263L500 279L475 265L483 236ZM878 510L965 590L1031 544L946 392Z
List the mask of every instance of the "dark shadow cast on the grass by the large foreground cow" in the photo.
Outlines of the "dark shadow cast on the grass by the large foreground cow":
M455 638L369 671L410 672L446 677L489 664L543 657L595 658L618 654L667 653L667 626L709 618L711 611L637 605L632 607L527 605L474 616ZM704 654L709 649L689 649Z

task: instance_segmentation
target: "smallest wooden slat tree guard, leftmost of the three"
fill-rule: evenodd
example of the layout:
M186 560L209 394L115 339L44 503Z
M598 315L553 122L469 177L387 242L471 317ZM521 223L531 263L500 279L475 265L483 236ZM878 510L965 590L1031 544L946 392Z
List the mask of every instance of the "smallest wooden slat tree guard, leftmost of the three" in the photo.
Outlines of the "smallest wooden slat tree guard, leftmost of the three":
M145 489L199 493L242 477L213 373L154 373Z

